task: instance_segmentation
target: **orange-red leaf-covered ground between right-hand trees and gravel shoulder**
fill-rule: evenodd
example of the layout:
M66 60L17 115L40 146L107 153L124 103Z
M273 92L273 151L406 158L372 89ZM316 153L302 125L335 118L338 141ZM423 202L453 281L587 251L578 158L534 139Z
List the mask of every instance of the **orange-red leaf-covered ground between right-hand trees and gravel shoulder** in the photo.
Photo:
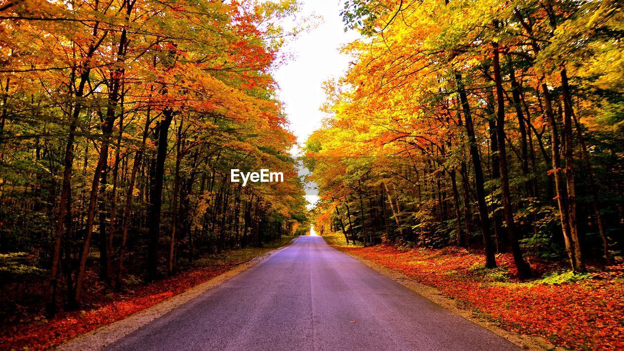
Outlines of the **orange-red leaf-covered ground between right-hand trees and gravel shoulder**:
M342 252L436 288L477 319L518 334L541 337L573 350L624 350L624 264L573 275L561 262L534 260L538 277L514 277L510 254L485 269L472 250L347 245L342 234L324 235Z

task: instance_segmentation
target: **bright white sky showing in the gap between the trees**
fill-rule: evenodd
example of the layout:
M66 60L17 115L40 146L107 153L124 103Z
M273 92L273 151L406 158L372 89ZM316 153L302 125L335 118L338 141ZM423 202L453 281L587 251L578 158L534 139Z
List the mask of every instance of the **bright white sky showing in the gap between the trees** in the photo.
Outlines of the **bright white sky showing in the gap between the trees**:
M321 127L324 114L319 109L325 101L323 82L342 76L348 69L351 58L341 54L340 49L359 35L355 31L344 31L340 16L342 1L300 0L300 3L301 12L294 21L301 23L305 18L312 18L311 29L289 39L283 51L290 59L276 67L273 77L280 87L278 97L285 106L290 130L303 146L308 136ZM285 27L291 25L285 23ZM318 200L313 191L306 194L311 204Z

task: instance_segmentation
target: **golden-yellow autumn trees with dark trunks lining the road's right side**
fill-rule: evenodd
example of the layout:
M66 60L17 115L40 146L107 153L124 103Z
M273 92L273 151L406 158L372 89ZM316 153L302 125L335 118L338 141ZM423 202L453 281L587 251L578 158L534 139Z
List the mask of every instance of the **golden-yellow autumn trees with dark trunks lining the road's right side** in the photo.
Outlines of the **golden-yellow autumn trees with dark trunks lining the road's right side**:
M620 1L348 1L363 39L308 140L317 225L482 247L487 267L622 257Z

